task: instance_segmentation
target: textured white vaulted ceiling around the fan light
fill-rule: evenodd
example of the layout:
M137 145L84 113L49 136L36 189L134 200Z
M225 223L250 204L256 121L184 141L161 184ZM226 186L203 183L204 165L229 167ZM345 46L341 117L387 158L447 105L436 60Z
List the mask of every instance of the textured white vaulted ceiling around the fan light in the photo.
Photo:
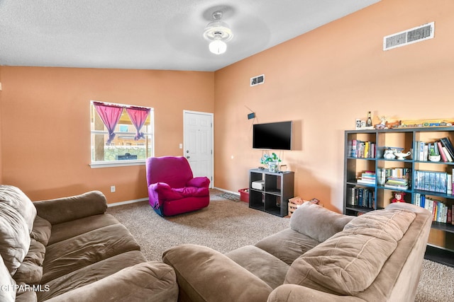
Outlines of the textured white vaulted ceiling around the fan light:
M215 71L380 0L0 0L0 65ZM225 54L202 37L211 13Z

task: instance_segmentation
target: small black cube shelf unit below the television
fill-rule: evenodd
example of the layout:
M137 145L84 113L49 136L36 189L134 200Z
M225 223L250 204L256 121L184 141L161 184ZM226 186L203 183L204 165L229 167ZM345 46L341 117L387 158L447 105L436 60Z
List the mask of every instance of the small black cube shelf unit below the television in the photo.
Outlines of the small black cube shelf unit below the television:
M262 180L262 190L253 182ZM289 199L294 197L294 172L270 172L266 169L249 170L249 207L277 216L287 216Z

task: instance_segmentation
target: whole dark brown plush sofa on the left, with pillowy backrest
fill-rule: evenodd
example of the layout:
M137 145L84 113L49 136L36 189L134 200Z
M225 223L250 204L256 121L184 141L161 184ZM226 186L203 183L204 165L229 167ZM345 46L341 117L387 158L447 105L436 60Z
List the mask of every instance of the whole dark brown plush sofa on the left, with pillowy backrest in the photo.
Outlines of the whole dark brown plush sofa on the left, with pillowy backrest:
M0 301L177 301L172 267L106 209L99 191L31 202L0 185Z

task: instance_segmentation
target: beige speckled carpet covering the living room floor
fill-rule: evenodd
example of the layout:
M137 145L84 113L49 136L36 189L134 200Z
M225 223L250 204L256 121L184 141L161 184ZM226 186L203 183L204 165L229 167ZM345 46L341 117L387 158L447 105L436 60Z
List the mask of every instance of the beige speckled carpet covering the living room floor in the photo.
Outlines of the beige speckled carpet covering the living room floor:
M288 228L289 219L249 209L247 203L233 199L211 190L206 209L165 219L148 202L111 207L107 212L131 231L148 260L161 260L162 252L180 243L229 252ZM454 301L454 268L423 260L415 301Z

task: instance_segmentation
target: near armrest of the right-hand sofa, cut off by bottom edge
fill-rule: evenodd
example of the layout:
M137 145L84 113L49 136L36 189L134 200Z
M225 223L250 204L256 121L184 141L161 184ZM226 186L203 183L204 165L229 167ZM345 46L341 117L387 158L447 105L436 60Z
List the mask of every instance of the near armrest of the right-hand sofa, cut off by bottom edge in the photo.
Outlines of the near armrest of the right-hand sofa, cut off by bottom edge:
M317 301L317 302L365 302L362 298L355 296L338 296L328 294L316 289L297 285L283 284L277 286L268 297L267 302L299 302L299 301Z

